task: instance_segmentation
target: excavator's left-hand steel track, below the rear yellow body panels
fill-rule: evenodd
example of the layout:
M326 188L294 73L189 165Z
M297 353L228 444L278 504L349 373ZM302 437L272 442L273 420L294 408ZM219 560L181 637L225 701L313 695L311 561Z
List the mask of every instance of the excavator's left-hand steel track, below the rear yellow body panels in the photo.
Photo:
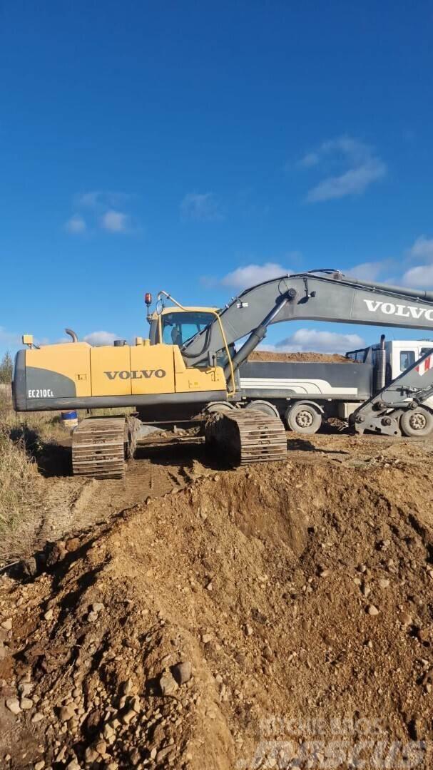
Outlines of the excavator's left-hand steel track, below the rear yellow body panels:
M88 417L72 434L72 472L75 476L121 479L130 456L125 417Z

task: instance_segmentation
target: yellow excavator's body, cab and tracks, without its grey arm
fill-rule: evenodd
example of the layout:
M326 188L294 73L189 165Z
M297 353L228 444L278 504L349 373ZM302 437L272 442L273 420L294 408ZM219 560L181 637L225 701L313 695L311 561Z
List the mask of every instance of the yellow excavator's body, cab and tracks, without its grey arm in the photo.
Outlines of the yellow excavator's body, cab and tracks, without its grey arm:
M146 300L151 301L149 295ZM200 328L203 319L219 318L212 309L187 310L194 319L198 313ZM169 313L158 311L154 324L161 328L161 316L171 327L170 342L164 339L151 343L149 338L137 336L134 345L115 340L112 346L91 346L79 342L76 333L66 329L72 344L39 347L32 335L23 335L27 350L18 351L15 357L12 383L15 410L134 408L133 414L125 416L87 417L80 421L72 435L75 475L123 477L126 460L133 457L145 419L170 423L211 417L206 441L232 464L284 459L284 425L274 414L242 410L233 416L230 412L230 420L218 422L220 410L230 408L227 397L231 391L223 367L217 364L217 357L212 363L188 367ZM223 333L223 326L221 330ZM227 343L223 357L230 359Z

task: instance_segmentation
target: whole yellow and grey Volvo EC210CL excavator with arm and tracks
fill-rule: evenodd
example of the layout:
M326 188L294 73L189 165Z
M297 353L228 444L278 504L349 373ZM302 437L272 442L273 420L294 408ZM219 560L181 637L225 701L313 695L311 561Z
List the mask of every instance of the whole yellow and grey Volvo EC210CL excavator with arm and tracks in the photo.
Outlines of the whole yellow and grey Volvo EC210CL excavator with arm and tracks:
M151 296L146 294L145 301L149 310ZM134 345L115 340L112 346L91 346L66 330L72 343L39 348L32 335L23 336L27 349L15 358L15 410L135 410L133 416L87 417L79 423L72 436L75 474L123 477L141 422L202 417L206 441L232 464L283 460L287 442L280 410L257 397L246 399L239 377L269 326L320 320L431 331L433 292L321 269L267 280L220 310L185 308L160 292L156 312L149 312L148 320L149 338L138 336ZM235 343L243 338L236 350ZM427 345L422 350L418 360L390 381L382 340L374 385L365 388L361 403L357 397L351 414L357 433L416 435L419 426L425 435L433 429L433 350ZM367 371L356 358L343 366L354 380L362 380ZM276 388L281 398L286 390L291 396L282 382Z

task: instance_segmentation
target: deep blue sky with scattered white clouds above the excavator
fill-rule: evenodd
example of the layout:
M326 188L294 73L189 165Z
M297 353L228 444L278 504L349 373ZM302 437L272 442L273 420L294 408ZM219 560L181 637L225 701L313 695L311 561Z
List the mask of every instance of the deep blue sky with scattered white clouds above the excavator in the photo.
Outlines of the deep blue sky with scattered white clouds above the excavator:
M145 334L146 290L220 305L280 269L433 286L430 3L0 14L0 353L65 326ZM268 341L379 332L286 324Z

